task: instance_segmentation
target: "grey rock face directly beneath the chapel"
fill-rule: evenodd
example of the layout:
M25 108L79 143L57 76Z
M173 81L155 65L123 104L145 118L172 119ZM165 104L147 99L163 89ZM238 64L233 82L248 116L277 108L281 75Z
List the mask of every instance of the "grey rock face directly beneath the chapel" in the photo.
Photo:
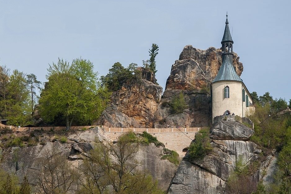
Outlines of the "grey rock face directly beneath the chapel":
M224 193L228 177L235 169L235 162L241 158L243 164L249 164L258 159L261 150L257 144L246 141L251 136L252 129L235 123L237 121L233 119L234 117L216 118L210 132L213 150L203 159L190 159L187 153L172 180L169 194ZM234 132L228 133L230 130ZM270 174L274 172L274 168L270 170L270 166L274 165L274 161L274 157L268 157L253 179L270 181Z

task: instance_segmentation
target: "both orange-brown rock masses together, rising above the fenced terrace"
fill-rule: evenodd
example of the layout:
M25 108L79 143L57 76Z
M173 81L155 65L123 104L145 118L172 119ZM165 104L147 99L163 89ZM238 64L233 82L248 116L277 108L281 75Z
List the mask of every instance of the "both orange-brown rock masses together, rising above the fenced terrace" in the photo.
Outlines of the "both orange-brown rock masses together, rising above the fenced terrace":
M202 127L211 120L210 83L222 64L222 51L184 47L179 60L172 65L166 90L155 84L154 74L139 67L141 78L127 82L112 95L96 124L108 127ZM234 67L241 75L243 65L234 54ZM176 114L170 106L172 99L184 95L186 108Z

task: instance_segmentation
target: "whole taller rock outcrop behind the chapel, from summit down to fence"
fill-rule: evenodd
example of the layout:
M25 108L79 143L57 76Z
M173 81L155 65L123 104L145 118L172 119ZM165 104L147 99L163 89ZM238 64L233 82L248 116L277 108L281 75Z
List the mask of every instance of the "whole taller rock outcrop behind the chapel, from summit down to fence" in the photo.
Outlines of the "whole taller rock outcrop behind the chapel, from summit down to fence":
M179 60L172 65L166 90L155 114L155 128L211 125L210 83L222 64L221 54L222 51L214 47L205 51L191 45L184 47ZM237 54L234 54L234 67L238 75L241 75L243 65ZM182 113L175 114L170 104L180 93L184 95L187 108Z

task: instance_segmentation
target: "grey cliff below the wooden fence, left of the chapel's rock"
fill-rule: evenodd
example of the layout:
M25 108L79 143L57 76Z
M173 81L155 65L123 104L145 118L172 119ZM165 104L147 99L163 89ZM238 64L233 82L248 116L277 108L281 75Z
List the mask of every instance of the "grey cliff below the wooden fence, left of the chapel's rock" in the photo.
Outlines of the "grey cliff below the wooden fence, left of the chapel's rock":
M65 155L69 165L78 168L83 159L89 156L89 152L94 148L96 142L109 143L112 141L101 127L67 134L68 141L66 143L60 143L60 137L54 135L54 132L31 132L31 134L38 136L40 142L46 143L1 149L1 167L7 172L16 174L20 182L24 175L27 175L32 186L38 183L36 176L40 170L38 160L46 156L47 153L51 155L51 151L53 151L54 154ZM21 132L15 135L23 137L30 135L30 133ZM157 148L153 143L141 145L136 160L140 163L139 170L149 172L155 180L158 180L159 187L167 190L177 166L168 160L162 160L163 155L163 147Z

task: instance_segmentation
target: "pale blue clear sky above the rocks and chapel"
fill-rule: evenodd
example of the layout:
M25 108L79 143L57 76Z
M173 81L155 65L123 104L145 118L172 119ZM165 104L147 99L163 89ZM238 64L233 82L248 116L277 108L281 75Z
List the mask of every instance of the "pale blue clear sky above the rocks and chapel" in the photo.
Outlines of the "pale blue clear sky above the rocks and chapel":
M227 11L248 90L289 101L290 7L289 0L0 0L0 65L46 82L58 57L82 57L102 76L115 62L142 66L156 43L165 88L184 46L220 48Z

